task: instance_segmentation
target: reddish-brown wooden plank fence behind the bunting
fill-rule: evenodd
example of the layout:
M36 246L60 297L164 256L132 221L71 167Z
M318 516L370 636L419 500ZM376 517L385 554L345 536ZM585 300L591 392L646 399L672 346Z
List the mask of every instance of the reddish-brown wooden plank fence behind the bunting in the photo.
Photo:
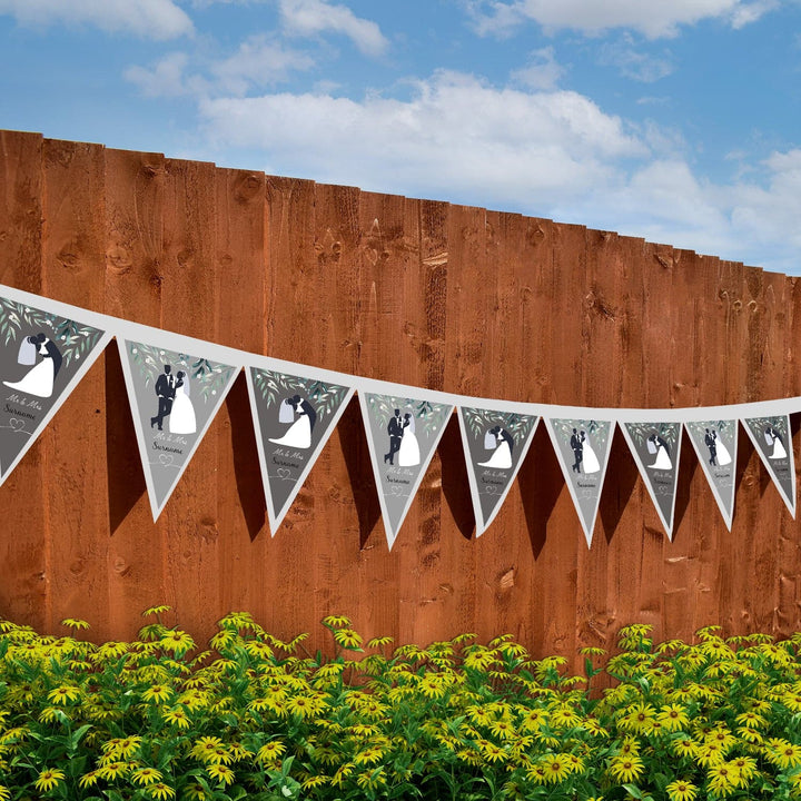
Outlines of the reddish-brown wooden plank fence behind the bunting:
M693 406L801 395L799 283L581 226L0 134L0 280L249 352L467 395ZM793 421L798 434L798 422ZM795 437L798 441L798 436ZM798 442L797 442L798 444ZM620 432L591 550L545 431L479 540L455 418L392 553L357 403L271 538L244 375L154 524L116 348L0 487L0 616L135 634L170 604L277 635L350 615L534 653L799 626L801 524L744 434L729 533L684 443L673 542Z

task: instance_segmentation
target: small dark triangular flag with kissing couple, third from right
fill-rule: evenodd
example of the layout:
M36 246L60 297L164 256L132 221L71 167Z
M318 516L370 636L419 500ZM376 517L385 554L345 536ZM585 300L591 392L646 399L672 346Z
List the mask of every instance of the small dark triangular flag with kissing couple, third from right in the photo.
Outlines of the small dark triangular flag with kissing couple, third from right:
M623 423L621 428L665 533L672 540L682 424Z

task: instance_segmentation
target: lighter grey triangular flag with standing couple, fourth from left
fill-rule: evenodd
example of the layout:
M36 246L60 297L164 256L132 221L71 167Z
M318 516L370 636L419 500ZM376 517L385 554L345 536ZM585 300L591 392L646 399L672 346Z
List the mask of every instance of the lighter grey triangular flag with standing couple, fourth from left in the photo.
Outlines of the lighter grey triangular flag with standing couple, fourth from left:
M359 393L359 403L392 550L453 406L373 393Z

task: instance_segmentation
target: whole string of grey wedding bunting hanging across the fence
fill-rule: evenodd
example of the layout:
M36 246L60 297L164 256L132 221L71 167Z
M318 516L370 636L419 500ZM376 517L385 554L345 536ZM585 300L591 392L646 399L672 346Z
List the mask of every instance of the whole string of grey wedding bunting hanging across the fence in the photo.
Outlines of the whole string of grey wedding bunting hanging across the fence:
M669 537L682 432L731 530L742 423L790 513L790 415L801 397L700 408L587 408L466 397L248 354L0 286L0 484L116 338L154 518L165 508L239 370L246 372L270 532L358 394L389 547L454 408L476 536L496 518L540 419L592 544L615 425ZM344 443L348 447L347 443Z

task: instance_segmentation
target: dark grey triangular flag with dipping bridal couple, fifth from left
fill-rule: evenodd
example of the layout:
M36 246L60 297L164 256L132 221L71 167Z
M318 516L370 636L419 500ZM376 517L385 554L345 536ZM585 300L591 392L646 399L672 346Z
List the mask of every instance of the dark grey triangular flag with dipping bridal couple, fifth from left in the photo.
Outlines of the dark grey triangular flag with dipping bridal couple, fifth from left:
M459 407L476 537L501 511L532 443L540 418L515 412Z

